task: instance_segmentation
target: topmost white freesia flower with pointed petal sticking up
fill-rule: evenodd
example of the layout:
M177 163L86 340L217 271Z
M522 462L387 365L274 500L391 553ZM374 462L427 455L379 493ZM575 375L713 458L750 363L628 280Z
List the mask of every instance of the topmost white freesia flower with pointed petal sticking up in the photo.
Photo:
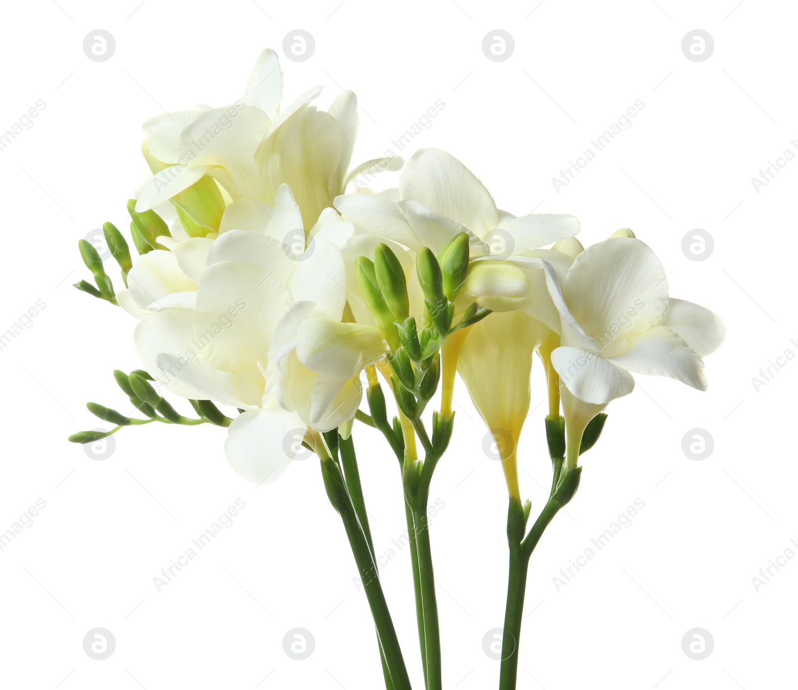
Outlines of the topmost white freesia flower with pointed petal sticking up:
M377 159L348 173L358 130L358 103L342 93L322 112L310 106L316 87L280 109L282 71L274 50L261 53L243 98L225 108L200 106L156 116L144 124L145 156L162 168L141 191L136 211L145 211L184 191L204 176L214 178L233 203L222 227L241 229L235 218L272 207L288 183L311 227L354 175L396 170L401 159ZM241 208L243 207L243 208ZM231 215L232 218L227 218Z

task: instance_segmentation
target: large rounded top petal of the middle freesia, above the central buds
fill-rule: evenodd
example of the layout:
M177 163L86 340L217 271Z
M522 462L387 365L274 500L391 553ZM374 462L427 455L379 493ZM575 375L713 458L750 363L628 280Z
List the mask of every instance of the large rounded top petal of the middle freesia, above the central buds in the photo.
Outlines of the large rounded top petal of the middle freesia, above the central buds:
M480 238L496 228L496 203L459 160L437 148L422 148L405 165L399 190L413 199L474 231Z

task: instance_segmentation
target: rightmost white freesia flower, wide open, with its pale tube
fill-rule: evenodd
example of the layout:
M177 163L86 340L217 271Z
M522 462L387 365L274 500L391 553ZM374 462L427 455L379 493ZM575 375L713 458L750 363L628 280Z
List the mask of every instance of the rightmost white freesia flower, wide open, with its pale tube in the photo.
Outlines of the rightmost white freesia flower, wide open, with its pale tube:
M568 467L576 465L587 423L634 388L630 372L706 390L701 357L721 345L725 328L704 307L669 298L665 270L644 242L614 237L580 253L564 276L548 262L544 270L562 324L551 363L560 379Z

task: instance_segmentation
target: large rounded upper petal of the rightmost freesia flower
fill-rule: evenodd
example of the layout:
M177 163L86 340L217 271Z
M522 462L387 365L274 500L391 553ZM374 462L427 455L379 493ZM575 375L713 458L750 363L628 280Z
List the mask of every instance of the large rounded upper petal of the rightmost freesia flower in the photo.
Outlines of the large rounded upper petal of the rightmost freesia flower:
M619 237L587 247L574 259L563 297L585 331L605 347L622 321L624 333L658 324L668 305L668 283L657 255L639 239Z

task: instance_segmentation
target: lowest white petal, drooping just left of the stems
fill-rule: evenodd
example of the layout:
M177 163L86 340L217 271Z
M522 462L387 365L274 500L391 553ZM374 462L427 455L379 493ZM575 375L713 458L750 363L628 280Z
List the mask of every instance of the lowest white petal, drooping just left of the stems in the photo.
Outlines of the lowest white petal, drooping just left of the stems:
M277 405L243 412L232 421L224 444L227 461L253 484L271 484L301 450L305 429Z

